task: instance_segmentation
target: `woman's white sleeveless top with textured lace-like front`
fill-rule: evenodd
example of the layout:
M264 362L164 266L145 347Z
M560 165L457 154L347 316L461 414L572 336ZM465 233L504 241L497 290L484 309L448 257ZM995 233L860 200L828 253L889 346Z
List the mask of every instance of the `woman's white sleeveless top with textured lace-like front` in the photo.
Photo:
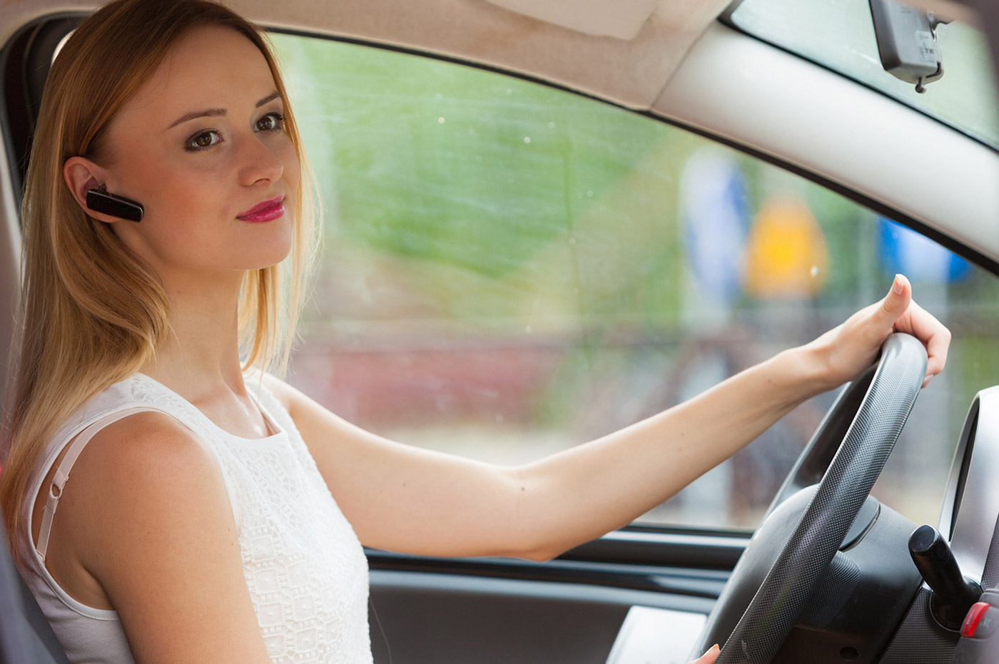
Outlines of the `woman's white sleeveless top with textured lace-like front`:
M45 475L70 440L99 420L104 421L94 429L107 425L115 419L109 415L135 409L169 414L215 452L236 518L243 574L271 660L372 662L368 561L361 543L288 411L259 380L247 376L247 389L276 434L249 439L228 433L170 388L137 373L87 401L47 445L28 483L27 531L18 538L28 567L20 571L73 664L134 660L118 614L76 601L46 569L45 525L51 516L43 520L36 549L32 508ZM80 440L89 440L94 429ZM70 474L75 451L67 453L57 476ZM57 502L50 493L52 511Z

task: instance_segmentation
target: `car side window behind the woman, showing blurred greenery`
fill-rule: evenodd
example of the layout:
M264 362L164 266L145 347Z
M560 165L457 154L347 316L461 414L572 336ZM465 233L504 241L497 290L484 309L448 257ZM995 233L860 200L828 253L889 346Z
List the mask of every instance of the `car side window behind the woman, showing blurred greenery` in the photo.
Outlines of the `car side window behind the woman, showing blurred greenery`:
M896 272L955 340L876 494L936 522L999 284L821 186L496 72L274 35L326 208L290 380L391 438L533 460L843 321ZM754 527L833 393L638 523Z

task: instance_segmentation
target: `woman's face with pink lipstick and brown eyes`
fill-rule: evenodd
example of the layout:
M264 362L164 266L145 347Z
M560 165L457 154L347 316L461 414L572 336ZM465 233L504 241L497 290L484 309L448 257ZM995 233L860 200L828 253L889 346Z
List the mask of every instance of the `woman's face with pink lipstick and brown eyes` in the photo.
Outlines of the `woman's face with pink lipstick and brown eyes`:
M168 282L279 263L299 183L283 113L249 39L221 27L185 37L108 127L107 190L146 211L115 233ZM271 209L252 214L262 205Z

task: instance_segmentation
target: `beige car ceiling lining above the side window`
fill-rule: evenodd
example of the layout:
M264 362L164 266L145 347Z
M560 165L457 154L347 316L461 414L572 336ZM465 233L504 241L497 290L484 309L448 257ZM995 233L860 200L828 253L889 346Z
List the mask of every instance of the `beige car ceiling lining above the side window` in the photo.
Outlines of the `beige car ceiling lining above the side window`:
M100 2L0 0L15 26ZM258 23L428 51L647 109L728 0L236 0Z

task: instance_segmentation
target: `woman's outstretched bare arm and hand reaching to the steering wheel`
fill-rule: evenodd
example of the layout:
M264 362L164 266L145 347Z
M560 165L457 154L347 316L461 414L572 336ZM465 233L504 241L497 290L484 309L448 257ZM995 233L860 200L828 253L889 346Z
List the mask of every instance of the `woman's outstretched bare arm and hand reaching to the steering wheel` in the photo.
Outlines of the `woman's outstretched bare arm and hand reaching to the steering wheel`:
M950 334L902 279L881 303L703 394L620 431L518 467L478 463L365 432L276 383L334 496L370 546L428 555L547 559L628 523L806 398L849 380L895 330L939 372Z

